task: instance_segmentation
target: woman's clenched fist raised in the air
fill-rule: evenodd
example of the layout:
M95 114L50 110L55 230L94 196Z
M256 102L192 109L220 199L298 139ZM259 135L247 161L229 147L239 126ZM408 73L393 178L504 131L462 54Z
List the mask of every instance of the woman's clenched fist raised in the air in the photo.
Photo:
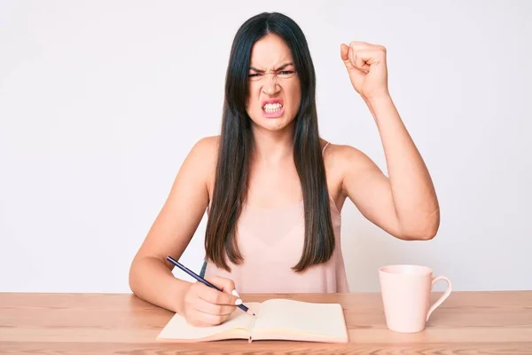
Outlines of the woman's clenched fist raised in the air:
M364 100L389 95L385 47L365 42L342 43L340 55L353 87Z

